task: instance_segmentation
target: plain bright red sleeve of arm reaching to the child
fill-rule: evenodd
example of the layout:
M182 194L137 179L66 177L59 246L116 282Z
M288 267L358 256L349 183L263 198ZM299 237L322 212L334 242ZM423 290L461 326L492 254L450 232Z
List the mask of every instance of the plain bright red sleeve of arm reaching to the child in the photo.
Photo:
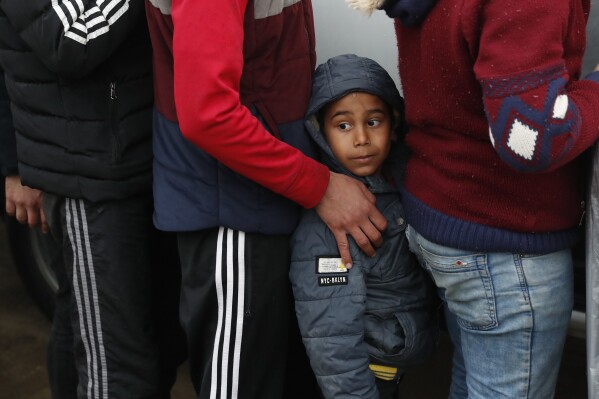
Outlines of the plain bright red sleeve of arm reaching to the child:
M328 169L266 131L241 104L247 0L174 0L175 103L184 136L227 167L310 208Z

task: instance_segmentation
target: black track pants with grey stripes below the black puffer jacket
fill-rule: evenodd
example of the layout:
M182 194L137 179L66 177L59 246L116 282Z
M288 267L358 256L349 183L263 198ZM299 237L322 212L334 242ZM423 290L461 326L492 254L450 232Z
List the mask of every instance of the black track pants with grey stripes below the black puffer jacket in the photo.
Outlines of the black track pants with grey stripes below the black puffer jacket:
M50 337L51 385L73 383L58 369L72 367L72 350L78 398L168 398L185 356L180 269L175 236L152 225L152 198L91 203L44 194L44 211L70 283ZM68 314L72 337L64 333Z

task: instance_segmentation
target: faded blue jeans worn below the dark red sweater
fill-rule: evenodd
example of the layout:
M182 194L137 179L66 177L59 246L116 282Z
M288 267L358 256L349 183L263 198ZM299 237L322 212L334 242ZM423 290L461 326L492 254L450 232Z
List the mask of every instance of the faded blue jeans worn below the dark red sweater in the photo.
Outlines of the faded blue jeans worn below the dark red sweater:
M410 249L445 304L454 344L450 398L552 398L573 306L572 255Z

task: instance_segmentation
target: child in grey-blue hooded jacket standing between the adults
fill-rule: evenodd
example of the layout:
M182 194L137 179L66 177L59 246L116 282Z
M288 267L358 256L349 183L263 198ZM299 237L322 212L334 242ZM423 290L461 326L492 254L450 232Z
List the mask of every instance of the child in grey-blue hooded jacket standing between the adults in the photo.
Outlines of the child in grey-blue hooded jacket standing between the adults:
M292 239L290 278L304 345L326 399L393 398L403 373L434 352L434 295L409 252L398 184L403 99L368 58L331 58L315 73L306 127L322 159L366 184L389 227L376 256L350 241L353 267L311 209Z

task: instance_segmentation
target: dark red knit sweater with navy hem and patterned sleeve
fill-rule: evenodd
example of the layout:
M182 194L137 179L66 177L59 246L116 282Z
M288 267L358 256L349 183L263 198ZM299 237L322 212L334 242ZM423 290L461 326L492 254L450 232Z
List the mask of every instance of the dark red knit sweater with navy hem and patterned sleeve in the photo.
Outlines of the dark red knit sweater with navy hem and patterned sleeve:
M550 252L583 212L599 73L579 80L588 0L440 0L396 22L410 125L408 221L442 245Z

